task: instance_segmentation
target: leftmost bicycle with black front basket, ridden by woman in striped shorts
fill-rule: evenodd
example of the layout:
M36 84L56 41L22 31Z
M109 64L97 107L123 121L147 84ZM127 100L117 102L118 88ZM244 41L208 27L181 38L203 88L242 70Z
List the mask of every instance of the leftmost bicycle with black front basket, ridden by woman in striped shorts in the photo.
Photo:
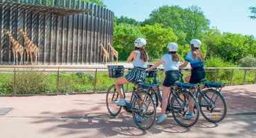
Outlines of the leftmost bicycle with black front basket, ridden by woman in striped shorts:
M108 70L109 77L116 78L121 77L124 74L125 68L123 66L108 66ZM131 70L131 68L128 68L128 70ZM147 89L141 86L143 81L138 80L132 83L134 83L134 86L131 98L126 106L118 106L115 104L115 101L120 99L116 90L116 85L113 84L109 87L106 95L107 110L111 115L116 116L120 113L120 110L124 108L127 112L132 113L134 122L138 128L147 130L153 126L156 120L156 103ZM152 87L149 89L154 88ZM122 85L122 90L125 97L124 85ZM138 118L142 118L142 120L139 120Z

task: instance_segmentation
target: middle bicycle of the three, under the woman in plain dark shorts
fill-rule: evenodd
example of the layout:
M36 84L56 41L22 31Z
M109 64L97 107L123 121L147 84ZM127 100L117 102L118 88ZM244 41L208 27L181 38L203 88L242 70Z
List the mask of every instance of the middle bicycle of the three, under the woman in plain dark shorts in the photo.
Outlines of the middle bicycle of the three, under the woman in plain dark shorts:
M156 106L158 106L158 102L162 103L163 99L161 97L159 85L156 81L156 72L157 69L149 72L149 76L147 76L154 77L153 83L144 83L142 86L145 88L156 87L156 89L150 90L149 93L152 95L152 97L154 97ZM187 90L189 89L194 91L198 88L199 84L180 83L179 81L176 81L169 92L167 98L167 109L165 110L165 113L169 114L172 112L172 117L174 117L174 120L181 126L193 126L199 119L199 103L196 97L194 97L194 95ZM189 103L194 103L194 117L191 119L184 119L183 117L188 114Z

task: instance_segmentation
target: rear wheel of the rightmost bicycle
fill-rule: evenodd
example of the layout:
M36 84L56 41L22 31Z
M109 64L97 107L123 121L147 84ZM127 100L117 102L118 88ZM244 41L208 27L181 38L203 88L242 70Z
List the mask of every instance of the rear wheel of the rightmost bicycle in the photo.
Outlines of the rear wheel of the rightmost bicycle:
M199 106L203 117L217 123L226 117L227 104L221 93L216 90L203 90L204 96L199 95Z

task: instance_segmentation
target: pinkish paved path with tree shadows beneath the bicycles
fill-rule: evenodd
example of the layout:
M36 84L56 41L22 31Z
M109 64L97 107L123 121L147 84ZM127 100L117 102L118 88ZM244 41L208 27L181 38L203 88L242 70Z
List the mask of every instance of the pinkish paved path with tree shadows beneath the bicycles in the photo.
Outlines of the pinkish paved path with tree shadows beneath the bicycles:
M140 130L131 114L109 117L106 94L0 97L0 108L14 108L0 115L1 137L254 137L256 84L226 86L221 93L228 104L228 116L213 124L202 117L184 128L168 118L151 129ZM158 112L160 112L158 107ZM128 117L129 116L129 117ZM75 118L71 118L75 117Z

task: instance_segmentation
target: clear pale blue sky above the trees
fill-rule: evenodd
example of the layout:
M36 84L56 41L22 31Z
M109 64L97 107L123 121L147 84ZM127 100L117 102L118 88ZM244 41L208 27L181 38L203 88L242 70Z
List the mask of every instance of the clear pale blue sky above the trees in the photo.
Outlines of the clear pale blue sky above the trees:
M124 16L136 21L149 18L152 10L161 6L178 5L181 8L199 6L210 26L221 32L253 34L256 37L256 20L249 19L253 15L248 8L256 6L256 0L104 0L107 9L116 17Z

